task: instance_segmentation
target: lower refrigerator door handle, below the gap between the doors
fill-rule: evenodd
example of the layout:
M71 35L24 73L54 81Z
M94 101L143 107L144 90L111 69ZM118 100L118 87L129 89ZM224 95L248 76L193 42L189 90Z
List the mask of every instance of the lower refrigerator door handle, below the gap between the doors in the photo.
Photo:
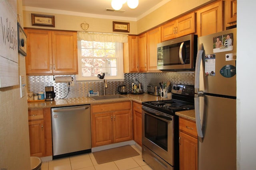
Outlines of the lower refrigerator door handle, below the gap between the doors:
M196 116L196 130L198 137L201 137L201 140L203 140L203 131L202 131L202 125L201 125L201 119L200 119L200 107L199 107L199 97L203 96L203 94L195 94L194 102L195 102L195 116Z

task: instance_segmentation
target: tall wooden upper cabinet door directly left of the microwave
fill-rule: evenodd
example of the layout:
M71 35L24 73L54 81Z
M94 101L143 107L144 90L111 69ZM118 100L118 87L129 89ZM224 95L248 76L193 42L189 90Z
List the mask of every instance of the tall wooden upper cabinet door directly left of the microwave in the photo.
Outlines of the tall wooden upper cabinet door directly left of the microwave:
M147 32L148 49L148 72L161 72L157 69L157 44L161 43L161 27L154 28Z

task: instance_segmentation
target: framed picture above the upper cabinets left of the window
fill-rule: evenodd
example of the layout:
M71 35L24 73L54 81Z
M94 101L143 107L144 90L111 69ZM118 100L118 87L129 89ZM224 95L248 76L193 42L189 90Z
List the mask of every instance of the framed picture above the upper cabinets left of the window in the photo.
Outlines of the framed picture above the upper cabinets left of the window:
M42 15L42 14L31 14L32 25L35 26L46 26L55 27L54 16Z

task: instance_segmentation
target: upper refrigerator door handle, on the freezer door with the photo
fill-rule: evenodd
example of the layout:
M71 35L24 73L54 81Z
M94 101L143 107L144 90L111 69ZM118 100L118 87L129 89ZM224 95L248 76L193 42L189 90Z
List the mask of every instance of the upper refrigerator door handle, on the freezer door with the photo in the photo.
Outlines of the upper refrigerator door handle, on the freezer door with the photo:
M200 79L200 64L202 61L202 55L204 53L204 46L202 45L201 50L198 50L196 55L196 66L195 66L195 93L199 90L199 79Z

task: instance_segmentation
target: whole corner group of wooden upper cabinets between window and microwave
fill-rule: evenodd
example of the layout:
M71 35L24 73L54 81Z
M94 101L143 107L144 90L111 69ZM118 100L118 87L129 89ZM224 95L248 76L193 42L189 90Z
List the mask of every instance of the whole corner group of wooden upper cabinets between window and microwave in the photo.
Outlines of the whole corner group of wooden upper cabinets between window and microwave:
M157 69L157 43L161 42L161 27L139 36L128 36L124 43L124 73L161 72Z

